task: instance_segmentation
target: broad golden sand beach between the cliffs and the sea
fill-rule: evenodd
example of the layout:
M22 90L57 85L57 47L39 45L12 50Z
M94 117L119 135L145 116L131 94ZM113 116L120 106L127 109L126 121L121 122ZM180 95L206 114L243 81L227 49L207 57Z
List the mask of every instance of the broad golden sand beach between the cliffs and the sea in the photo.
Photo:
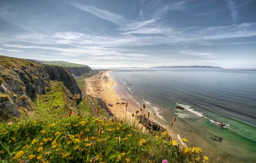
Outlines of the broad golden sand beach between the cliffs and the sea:
M86 81L86 93L93 97L101 98L105 103L112 104L108 106L110 111L116 116L116 118L125 118L125 104L128 103L126 110L127 117L131 117L132 113L136 113L136 110L140 110L134 100L131 99L128 94L122 90L121 86L116 85L116 82L107 75L109 71L101 71ZM119 103L119 104L116 104ZM147 111L145 111L147 114Z

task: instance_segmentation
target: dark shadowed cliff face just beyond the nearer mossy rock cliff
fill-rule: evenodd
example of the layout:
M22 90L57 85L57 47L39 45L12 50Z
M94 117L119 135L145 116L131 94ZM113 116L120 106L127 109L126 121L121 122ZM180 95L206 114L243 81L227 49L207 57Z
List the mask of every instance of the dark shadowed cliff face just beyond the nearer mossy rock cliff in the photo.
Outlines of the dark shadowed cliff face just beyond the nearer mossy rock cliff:
M82 91L77 85L76 79L73 78L69 69L61 66L45 65L46 72L49 74L50 80L57 80L63 82L65 87L71 92L71 94L80 94ZM80 96L82 100L82 96Z

